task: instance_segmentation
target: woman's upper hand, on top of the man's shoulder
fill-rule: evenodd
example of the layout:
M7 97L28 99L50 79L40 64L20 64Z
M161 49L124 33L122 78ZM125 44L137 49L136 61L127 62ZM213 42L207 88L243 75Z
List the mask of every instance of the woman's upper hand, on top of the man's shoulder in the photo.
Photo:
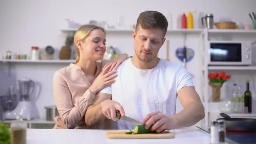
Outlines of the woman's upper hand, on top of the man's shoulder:
M113 69L117 69L118 66L125 61L126 59L128 59L129 57L127 55L121 55L118 56L115 59L110 60L108 63L106 63L103 67L103 69L105 69L107 66L111 65L109 72L111 72Z

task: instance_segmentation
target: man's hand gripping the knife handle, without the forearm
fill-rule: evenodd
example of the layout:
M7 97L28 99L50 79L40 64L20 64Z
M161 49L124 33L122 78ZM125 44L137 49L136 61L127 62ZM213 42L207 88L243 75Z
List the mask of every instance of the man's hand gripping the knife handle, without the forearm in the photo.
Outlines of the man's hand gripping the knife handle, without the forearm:
M106 118L112 119L113 121L117 121L116 111L119 110L121 116L125 116L124 108L116 101L112 101L110 99L102 101L100 103L102 107L102 113Z

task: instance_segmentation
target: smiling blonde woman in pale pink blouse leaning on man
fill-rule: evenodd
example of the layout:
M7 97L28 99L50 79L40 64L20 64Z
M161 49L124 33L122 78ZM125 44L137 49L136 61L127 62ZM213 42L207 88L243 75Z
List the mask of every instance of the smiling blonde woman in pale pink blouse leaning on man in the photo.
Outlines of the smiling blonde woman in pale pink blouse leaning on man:
M79 54L76 63L59 69L53 76L54 98L59 111L54 128L89 128L85 124L86 109L97 92L115 82L118 65L128 59L122 55L111 62L97 62L104 57L105 42L105 30L101 27L85 25L76 31L74 45Z

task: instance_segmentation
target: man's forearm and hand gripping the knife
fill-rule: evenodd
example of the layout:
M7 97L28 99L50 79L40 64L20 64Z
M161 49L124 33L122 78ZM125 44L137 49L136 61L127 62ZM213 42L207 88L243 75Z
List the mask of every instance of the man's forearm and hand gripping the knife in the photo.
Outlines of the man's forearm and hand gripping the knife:
M116 110L120 111L122 116L125 115L123 107L116 101L112 101L112 95L98 93L93 105L87 108L85 112L85 123L88 126L102 124L105 118L117 121Z

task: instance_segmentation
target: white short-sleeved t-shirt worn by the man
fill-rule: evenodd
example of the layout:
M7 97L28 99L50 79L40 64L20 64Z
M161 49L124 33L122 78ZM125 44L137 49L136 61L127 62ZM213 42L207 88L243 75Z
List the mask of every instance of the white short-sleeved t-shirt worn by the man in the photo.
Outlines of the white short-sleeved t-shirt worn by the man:
M115 82L100 91L112 95L120 103L125 116L138 121L153 111L168 117L175 114L177 92L185 86L193 86L191 76L183 66L160 59L152 69L138 69L131 58L117 69ZM125 121L112 121L112 129L134 129Z

